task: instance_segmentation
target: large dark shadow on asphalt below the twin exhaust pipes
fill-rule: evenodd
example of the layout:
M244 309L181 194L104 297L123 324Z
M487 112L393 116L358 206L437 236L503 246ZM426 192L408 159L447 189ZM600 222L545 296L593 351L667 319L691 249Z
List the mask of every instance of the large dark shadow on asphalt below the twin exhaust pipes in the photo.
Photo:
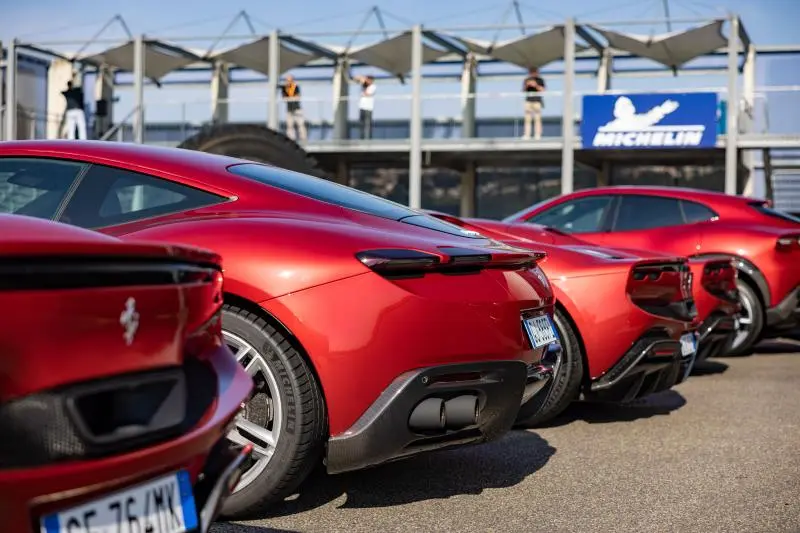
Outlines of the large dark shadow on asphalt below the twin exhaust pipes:
M555 452L539 435L514 431L489 444L427 453L358 472L330 476L320 468L297 497L275 506L269 515L296 514L331 502L342 509L377 508L481 494L517 485Z

